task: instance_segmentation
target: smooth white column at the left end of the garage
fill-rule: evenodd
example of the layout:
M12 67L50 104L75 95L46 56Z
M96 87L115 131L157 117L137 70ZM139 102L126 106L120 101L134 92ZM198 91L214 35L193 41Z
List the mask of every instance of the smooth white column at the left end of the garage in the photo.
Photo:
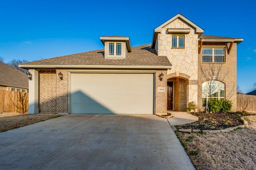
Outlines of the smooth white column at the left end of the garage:
M38 114L38 71L29 69L32 80L28 82L28 114Z

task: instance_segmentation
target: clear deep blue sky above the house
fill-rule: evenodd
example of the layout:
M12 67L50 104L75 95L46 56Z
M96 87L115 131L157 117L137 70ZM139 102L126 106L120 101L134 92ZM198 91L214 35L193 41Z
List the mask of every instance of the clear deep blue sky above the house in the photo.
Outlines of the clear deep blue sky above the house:
M104 35L148 44L154 28L181 13L206 35L244 38L237 79L249 92L256 82L255 6L253 0L0 0L0 57L34 61L102 49Z

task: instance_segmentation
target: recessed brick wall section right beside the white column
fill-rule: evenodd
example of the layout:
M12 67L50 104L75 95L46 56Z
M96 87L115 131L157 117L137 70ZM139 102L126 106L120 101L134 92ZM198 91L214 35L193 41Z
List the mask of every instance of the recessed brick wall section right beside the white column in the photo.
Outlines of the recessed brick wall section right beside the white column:
M56 70L38 72L39 113L56 113Z

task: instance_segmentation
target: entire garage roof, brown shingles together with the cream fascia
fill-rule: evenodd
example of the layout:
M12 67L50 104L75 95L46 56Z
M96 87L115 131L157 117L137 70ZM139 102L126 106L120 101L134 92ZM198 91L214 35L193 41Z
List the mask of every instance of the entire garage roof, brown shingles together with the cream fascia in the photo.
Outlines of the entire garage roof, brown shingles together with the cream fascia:
M166 56L158 56L151 44L132 47L126 59L104 59L104 49L23 63L22 68L171 68Z

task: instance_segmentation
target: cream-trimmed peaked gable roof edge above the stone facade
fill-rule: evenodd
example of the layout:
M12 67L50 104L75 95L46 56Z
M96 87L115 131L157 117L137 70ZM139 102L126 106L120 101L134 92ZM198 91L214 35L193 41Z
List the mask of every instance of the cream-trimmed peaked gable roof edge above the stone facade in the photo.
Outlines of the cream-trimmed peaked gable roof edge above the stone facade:
M168 25L172 21L176 20L177 18L183 20L184 22L188 23L191 27L196 29L196 33L198 33L198 37L200 37L200 35L202 35L202 33L204 32L204 29L200 28L198 25L196 25L192 21L188 20L188 18L182 16L181 14L177 14L176 16L172 17L170 20L166 21L165 23L163 23L162 25L160 25L159 27L154 29L154 34L153 34L153 39L152 39L152 46L151 46L152 48L154 48L154 46L155 46L157 34L160 33L166 25Z

